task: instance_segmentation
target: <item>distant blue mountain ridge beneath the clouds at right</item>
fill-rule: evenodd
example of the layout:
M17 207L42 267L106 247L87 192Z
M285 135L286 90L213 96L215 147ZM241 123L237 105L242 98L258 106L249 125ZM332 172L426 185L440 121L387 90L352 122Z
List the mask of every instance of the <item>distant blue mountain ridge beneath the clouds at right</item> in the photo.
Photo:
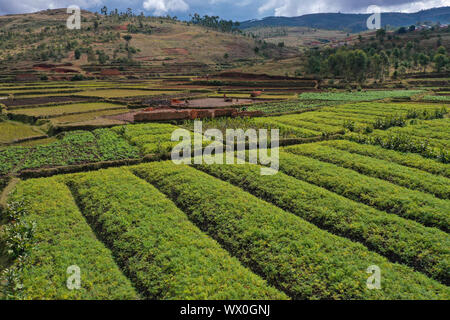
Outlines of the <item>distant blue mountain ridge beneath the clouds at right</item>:
M254 27L310 27L328 30L360 32L367 30L366 22L370 14L317 13L300 17L267 17L261 20L241 22L241 29ZM382 13L382 26L402 27L417 22L450 23L450 7L434 8L416 13Z

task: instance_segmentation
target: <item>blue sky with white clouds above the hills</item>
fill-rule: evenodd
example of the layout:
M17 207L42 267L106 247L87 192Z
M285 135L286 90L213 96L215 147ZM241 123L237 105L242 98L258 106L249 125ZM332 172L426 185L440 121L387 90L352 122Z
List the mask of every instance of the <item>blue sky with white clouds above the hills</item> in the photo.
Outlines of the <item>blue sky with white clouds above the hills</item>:
M370 5L382 11L416 12L422 9L450 6L450 0L0 0L0 14L35 12L43 9L78 5L82 9L100 11L130 7L145 15L171 15L188 19L189 14L215 15L223 19L244 21L267 16L300 16L309 13L366 13Z

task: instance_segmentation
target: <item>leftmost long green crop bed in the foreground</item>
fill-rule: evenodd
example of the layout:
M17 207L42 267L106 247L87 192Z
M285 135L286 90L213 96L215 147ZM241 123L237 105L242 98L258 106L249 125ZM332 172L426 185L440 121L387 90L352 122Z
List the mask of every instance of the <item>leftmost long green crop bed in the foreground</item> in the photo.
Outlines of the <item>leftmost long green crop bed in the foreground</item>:
M137 299L130 281L121 273L108 249L99 242L79 212L70 190L56 178L19 183L10 202L24 202L22 223L34 223L34 236L26 257L19 257L8 271L23 289L13 299ZM17 217L15 217L15 220ZM16 221L17 223L17 221ZM13 237L9 239L19 239ZM18 248L17 248L18 247ZM24 260L23 260L24 259ZM20 261L23 260L21 267ZM81 289L69 290L69 266L81 271Z

